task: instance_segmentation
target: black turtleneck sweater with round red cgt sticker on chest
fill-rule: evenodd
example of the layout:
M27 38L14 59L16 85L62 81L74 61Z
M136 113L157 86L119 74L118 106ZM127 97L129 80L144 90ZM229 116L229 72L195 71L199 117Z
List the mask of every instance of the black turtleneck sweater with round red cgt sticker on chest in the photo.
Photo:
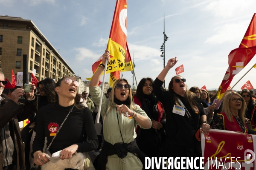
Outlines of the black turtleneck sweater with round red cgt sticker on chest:
M49 146L54 137L54 133L56 133L56 130L61 126L72 107L73 105L62 107L58 102L55 102L42 107L40 111L38 111L33 153L38 150L43 150L45 136L47 137L47 147ZM88 142L84 142L85 132L89 140ZM77 152L89 152L98 147L98 138L93 123L93 117L88 108L79 110L74 106L73 111L70 112L61 130L52 142L49 151L50 153L55 153L72 144L78 144Z

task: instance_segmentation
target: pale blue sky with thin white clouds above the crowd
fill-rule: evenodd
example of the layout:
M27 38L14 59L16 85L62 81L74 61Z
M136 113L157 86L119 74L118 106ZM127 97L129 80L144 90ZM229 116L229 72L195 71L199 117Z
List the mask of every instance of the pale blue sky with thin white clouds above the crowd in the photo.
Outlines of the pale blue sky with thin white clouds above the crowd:
M0 15L32 20L76 75L83 80L91 77L91 65L107 46L116 0L0 3ZM127 0L127 5L127 41L131 56L134 54L137 81L155 79L163 69L160 46L165 12L166 62L177 56L176 66L184 65L188 88L218 88L228 68L228 54L238 48L256 12L255 0ZM234 77L231 87L254 63L256 57ZM169 71L166 86L175 68ZM256 88L255 75L253 68L234 89L239 90L247 80ZM123 77L132 84L131 72L123 72Z

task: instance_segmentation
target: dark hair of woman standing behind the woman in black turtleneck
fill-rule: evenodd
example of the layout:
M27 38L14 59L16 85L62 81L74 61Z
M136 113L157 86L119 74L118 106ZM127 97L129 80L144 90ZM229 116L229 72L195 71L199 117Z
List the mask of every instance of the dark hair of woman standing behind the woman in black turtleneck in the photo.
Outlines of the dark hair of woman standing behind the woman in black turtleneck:
M43 86L48 103L56 102L56 94L54 91L56 83L54 82L53 79L48 77L46 79L41 80L36 85L37 87L39 87L39 85Z

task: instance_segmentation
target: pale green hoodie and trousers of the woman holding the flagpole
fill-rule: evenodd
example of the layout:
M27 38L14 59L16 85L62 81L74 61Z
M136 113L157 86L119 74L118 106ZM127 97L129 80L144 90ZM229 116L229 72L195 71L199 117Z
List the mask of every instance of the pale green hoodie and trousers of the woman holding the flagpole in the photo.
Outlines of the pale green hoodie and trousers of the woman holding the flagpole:
M90 87L90 94L93 98L94 103L98 106L100 100L101 89L99 87ZM116 104L114 104L116 106ZM120 124L120 129L122 137L120 135L118 120L116 116L116 108L113 108L110 112L106 113L110 106L110 101L103 95L102 99L102 108L101 116L103 118L103 135L104 139L111 143L122 143L122 137L125 143L130 143L134 141L137 137L136 127L140 124L137 123L134 119L128 119L123 114L119 116L118 119ZM148 117L147 114L140 108L139 105L134 104L135 112L145 117ZM149 119L149 118L148 118ZM150 119L149 119L150 120ZM151 120L150 120L151 122ZM143 128L143 127L141 127ZM125 163L123 162L125 161ZM137 158L133 153L128 153L123 161L115 154L108 156L108 163L106 165L107 170L131 170L131 165L133 170L142 170L143 165L140 159Z

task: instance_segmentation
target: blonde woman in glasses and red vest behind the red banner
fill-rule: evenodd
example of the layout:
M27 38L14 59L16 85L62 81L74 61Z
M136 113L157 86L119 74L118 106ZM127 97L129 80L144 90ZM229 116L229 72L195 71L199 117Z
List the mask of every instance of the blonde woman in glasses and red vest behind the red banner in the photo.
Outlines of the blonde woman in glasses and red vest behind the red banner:
M212 122L212 129L230 130L237 133L256 133L248 130L244 122L246 102L236 92L226 94L223 100L222 112L217 113L217 118Z

